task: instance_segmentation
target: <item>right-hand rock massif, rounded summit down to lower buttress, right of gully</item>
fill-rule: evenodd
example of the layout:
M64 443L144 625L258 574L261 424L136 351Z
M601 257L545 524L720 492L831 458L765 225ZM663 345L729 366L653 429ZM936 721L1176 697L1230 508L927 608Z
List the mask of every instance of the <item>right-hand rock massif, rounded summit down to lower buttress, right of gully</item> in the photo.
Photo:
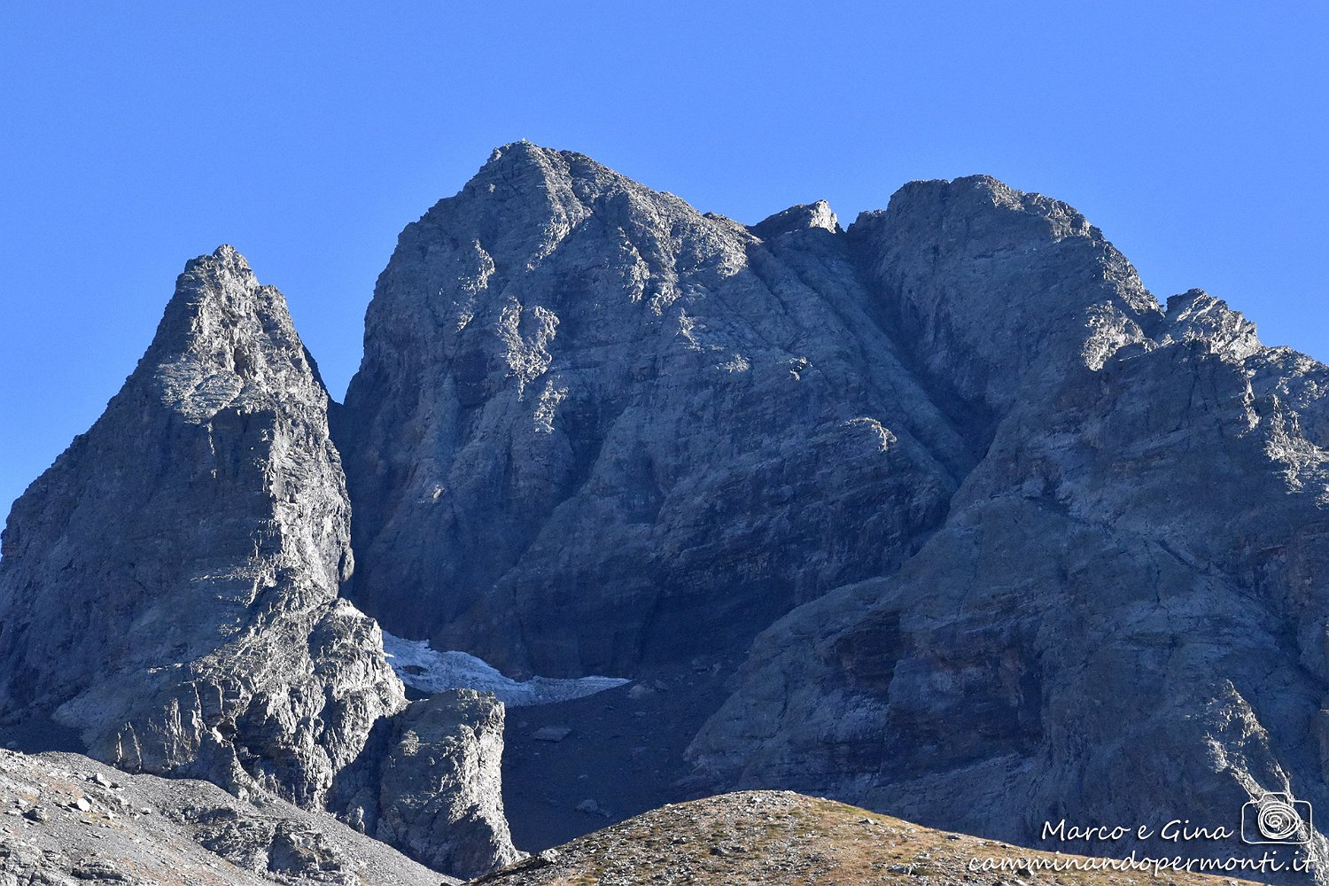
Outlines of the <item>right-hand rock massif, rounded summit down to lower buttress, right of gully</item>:
M1159 310L1073 210L991 179L851 236L990 444L897 574L756 640L699 768L1023 841L1329 801L1325 367L1203 292Z

